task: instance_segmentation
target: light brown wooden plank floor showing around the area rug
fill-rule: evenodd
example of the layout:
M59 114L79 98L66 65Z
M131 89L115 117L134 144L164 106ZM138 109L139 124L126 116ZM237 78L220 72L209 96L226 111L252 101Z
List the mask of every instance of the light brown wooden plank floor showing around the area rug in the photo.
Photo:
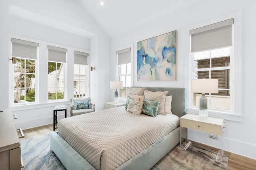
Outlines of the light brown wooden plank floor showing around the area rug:
M58 131L58 129L55 129L55 131ZM32 129L26 129L23 130L25 137L20 138L20 141L33 137L38 137L41 135L46 135L51 132L53 132L53 124L34 127ZM218 152L219 150L214 147L210 147L208 145L204 145L194 141L192 141L192 144L204 147L206 149L214 150L216 152ZM224 154L228 156L228 170L256 170L256 160L226 151L224 151Z

